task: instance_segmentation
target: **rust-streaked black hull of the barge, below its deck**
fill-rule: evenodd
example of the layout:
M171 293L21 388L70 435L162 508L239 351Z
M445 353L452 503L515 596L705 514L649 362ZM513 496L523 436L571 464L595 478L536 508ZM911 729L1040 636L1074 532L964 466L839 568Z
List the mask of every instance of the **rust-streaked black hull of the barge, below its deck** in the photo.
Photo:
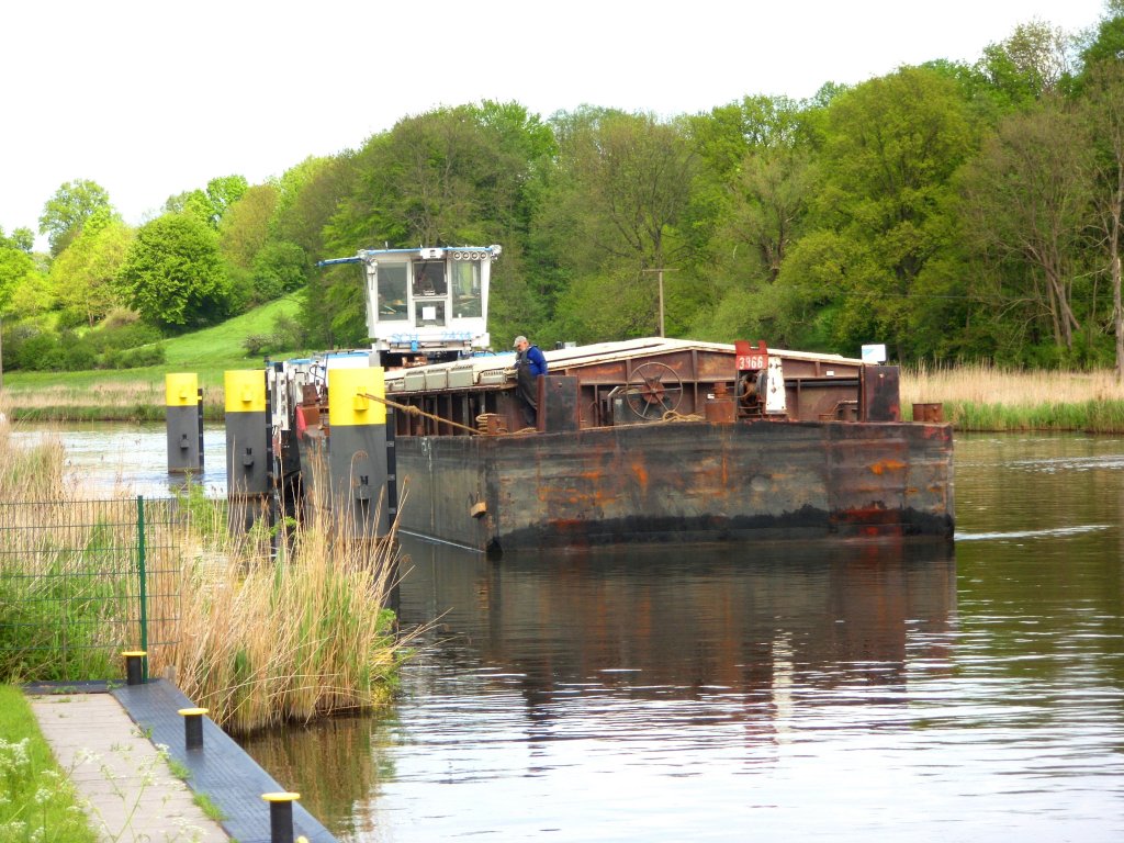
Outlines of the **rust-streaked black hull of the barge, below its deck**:
M501 552L631 542L951 538L940 424L671 423L404 436L406 533Z

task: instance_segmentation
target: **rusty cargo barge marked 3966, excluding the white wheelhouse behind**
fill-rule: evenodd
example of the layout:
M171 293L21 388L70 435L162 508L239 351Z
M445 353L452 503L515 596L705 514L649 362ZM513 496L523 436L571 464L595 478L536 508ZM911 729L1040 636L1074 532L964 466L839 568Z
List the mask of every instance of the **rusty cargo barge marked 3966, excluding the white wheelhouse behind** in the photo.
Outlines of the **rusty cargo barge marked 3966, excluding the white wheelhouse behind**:
M399 529L489 553L952 536L951 426L901 420L896 366L660 337L546 357L534 428L511 355L386 373Z

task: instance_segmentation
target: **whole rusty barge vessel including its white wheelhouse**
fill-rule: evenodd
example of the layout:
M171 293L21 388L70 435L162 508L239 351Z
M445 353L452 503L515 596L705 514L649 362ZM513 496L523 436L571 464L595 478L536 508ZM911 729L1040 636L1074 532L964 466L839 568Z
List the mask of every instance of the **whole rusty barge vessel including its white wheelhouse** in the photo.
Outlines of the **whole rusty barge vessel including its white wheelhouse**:
M372 345L266 373L273 477L291 511L320 452L332 506L356 531L386 535L392 517L490 553L952 536L951 427L901 420L896 366L761 342L555 348L527 428L514 355L487 352L501 254L388 247L321 262L362 268Z

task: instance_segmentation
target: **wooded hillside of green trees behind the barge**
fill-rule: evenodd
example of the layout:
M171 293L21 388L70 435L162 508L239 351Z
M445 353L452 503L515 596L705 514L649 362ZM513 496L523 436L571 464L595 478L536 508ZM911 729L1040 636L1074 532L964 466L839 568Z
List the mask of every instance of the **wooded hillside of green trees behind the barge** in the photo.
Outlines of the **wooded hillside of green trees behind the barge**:
M672 336L1120 370L1122 209L1124 0L1109 0L1080 36L1032 21L977 62L808 100L674 118L437 108L262 184L214 179L138 228L70 182L39 219L49 254L0 230L3 360L54 348L78 368L116 348L128 364L129 343L284 294L300 329L279 344L362 345L360 272L317 261L499 243L501 347L655 334L663 270Z

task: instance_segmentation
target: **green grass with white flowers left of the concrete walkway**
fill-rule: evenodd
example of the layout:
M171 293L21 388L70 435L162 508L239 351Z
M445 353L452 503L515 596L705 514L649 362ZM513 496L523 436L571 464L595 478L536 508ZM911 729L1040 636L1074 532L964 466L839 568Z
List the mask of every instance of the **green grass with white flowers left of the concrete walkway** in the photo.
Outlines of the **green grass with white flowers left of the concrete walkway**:
M0 840L96 843L19 688L0 686Z

